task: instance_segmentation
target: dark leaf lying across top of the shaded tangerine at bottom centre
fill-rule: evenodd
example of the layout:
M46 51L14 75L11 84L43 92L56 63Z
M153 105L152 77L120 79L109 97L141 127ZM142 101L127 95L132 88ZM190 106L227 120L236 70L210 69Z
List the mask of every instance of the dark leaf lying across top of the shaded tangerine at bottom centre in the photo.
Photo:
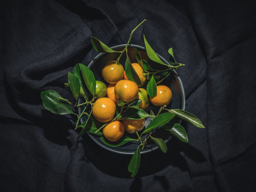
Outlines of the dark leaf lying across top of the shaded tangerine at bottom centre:
M142 119L146 117L149 117L149 115L142 109L127 108L117 117L117 120Z

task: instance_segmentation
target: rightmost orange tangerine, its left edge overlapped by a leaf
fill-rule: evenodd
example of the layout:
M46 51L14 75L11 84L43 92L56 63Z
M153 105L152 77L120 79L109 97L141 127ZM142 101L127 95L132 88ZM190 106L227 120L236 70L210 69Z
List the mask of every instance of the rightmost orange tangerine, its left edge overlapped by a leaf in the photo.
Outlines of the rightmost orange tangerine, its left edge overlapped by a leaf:
M155 97L149 97L149 99L154 106L168 105L172 100L172 91L165 85L158 85Z

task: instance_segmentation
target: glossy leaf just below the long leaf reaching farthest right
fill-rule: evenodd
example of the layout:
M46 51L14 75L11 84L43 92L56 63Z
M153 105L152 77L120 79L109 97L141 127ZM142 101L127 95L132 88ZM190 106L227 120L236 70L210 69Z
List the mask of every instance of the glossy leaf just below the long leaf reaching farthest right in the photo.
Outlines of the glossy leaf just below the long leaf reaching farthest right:
M184 127L182 127L180 124L175 123L174 125L172 123L166 123L163 126L163 129L171 132L175 137L177 137L179 140L183 142L188 142L188 134Z

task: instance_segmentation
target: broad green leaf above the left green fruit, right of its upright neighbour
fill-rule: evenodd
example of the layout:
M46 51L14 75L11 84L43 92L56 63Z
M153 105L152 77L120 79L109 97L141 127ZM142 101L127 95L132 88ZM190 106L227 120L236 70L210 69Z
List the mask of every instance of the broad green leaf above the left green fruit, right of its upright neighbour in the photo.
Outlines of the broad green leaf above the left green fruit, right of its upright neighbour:
M83 65L82 63L79 63L79 67L84 79L84 83L87 86L88 90L92 93L92 95L95 95L95 90L96 90L96 81L95 77L88 67Z

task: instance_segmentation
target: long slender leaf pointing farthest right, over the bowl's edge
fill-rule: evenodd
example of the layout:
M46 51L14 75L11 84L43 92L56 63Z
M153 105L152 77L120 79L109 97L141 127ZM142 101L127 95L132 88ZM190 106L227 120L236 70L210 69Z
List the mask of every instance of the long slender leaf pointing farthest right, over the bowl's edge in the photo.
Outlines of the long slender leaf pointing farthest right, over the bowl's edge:
M200 119L198 117L196 117L195 115L189 113L188 111L181 110L181 109L165 109L165 110L169 111L172 114L175 114L180 119L182 119L186 122L189 122L189 123L195 125L196 127L204 128L204 125L202 124Z

